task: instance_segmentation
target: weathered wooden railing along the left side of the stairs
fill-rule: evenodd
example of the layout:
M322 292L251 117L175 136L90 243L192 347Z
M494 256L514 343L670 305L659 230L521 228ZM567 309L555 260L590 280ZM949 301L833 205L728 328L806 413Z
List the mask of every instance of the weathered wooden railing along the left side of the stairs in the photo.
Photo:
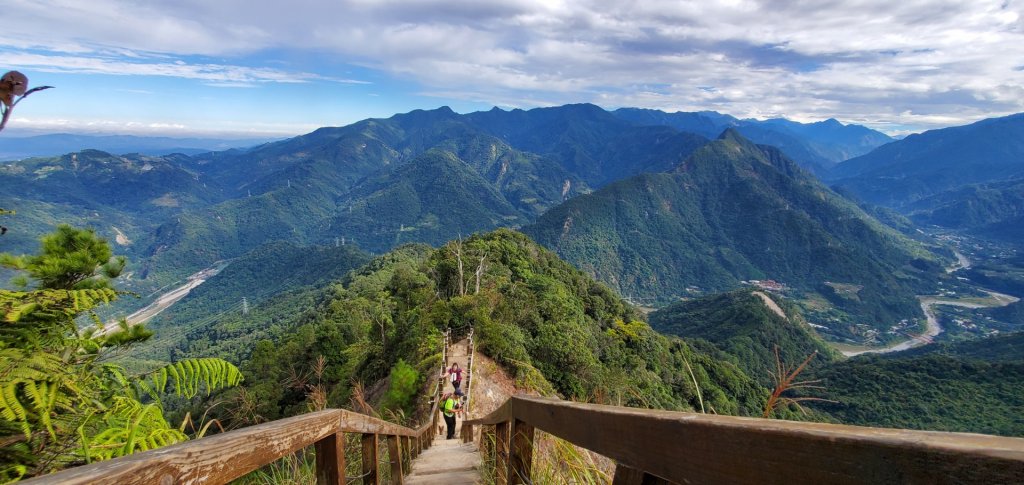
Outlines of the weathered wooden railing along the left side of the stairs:
M450 334L443 336L441 370L447 358ZM360 436L364 484L378 484L379 447L386 442L391 483L401 484L413 458L433 444L439 425L439 393L444 380L437 379L430 413L424 425L411 429L345 409L325 409L278 420L208 438L186 441L129 456L86 465L44 475L22 483L31 485L76 484L222 484L242 477L307 446L315 449L316 483L345 485L345 434Z

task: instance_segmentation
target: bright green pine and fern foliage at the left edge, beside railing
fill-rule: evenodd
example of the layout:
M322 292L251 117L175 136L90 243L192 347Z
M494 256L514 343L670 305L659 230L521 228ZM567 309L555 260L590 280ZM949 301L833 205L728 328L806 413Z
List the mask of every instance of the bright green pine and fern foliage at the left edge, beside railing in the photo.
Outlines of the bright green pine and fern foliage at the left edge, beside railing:
M188 437L164 418L161 396L184 398L242 381L221 359L189 359L143 376L106 361L152 334L141 325L101 326L93 309L121 293L125 266L91 230L60 226L39 255L0 255L30 291L0 290L0 481L108 459ZM96 326L82 328L80 316Z

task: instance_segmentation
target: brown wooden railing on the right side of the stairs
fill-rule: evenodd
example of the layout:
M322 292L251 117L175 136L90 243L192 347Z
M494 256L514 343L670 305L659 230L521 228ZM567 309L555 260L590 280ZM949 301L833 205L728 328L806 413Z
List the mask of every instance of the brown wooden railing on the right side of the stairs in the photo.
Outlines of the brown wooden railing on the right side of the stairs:
M535 430L617 464L614 485L1024 483L1024 439L658 411L513 396L485 417L499 485L532 483Z

